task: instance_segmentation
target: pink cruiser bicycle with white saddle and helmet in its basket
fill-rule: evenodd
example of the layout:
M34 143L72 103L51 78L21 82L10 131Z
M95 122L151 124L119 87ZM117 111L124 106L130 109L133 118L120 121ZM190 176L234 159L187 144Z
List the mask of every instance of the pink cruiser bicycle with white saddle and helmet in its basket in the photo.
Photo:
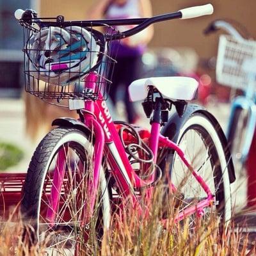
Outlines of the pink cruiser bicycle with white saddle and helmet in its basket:
M105 101L122 38L154 22L212 12L206 4L147 19L79 21L15 12L24 28L26 91L79 114L78 120L52 122L56 127L36 148L23 188L21 211L35 228L35 241L56 233L47 250L78 254L81 228L90 232L90 220L97 216L100 239L109 228L112 206L120 204L124 211L125 200L147 214L141 202L159 182L180 201L175 221L204 216L206 209L230 219L234 167L216 118L187 102L195 99L195 79L151 77L129 86L130 99L143 100L150 131L113 122ZM121 33L118 25L138 26Z

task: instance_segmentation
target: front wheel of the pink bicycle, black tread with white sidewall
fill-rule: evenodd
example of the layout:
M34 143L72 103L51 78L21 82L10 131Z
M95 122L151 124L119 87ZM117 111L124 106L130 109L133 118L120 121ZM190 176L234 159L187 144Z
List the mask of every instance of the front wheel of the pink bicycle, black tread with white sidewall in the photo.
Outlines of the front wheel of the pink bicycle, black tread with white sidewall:
M107 182L100 172L100 193L91 209L93 138L78 129L56 128L35 150L24 183L21 211L32 246L47 255L85 255L95 250L109 227ZM27 232L27 233L28 233ZM90 237L90 239L89 239ZM42 249L43 248L43 249ZM86 251L86 252L82 252Z

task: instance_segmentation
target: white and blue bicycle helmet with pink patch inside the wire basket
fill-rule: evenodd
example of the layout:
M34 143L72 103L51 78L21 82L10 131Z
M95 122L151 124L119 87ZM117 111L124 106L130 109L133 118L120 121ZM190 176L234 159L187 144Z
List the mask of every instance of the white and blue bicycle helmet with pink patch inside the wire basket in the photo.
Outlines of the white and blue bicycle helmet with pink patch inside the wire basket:
M31 40L26 47L29 73L38 80L65 86L97 64L100 47L84 28L42 28Z

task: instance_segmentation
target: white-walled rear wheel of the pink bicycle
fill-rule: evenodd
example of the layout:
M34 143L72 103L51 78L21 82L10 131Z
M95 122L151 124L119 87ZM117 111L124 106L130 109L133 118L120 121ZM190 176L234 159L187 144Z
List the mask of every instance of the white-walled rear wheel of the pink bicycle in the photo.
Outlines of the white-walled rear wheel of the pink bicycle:
M223 221L231 218L230 181L228 163L225 157L225 142L221 141L216 127L207 116L194 113L182 125L177 143L192 164L194 170L204 179L215 195L217 205L212 209L220 214ZM182 209L196 204L207 196L198 181L175 153L172 161L172 183L182 195ZM210 211L212 212L212 209Z

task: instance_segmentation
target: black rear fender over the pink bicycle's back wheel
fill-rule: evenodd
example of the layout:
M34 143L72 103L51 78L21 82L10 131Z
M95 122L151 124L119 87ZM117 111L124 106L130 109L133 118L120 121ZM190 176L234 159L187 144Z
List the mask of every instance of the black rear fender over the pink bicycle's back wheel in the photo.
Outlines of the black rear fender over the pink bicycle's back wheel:
M230 150L228 148L227 138L220 127L220 124L216 120L216 118L207 111L202 106L198 106L196 104L188 104L186 106L186 110L182 116L179 116L177 111L173 112L170 116L168 122L164 125L163 129L161 129L161 134L172 140L173 142L177 143L179 138L179 131L185 122L189 119L189 117L195 113L202 113L202 115L207 116L209 118L212 125L215 125L216 132L220 137L221 144L223 145L225 151L226 161L228 163L228 177L230 180L230 184L236 180L234 164L231 158Z

